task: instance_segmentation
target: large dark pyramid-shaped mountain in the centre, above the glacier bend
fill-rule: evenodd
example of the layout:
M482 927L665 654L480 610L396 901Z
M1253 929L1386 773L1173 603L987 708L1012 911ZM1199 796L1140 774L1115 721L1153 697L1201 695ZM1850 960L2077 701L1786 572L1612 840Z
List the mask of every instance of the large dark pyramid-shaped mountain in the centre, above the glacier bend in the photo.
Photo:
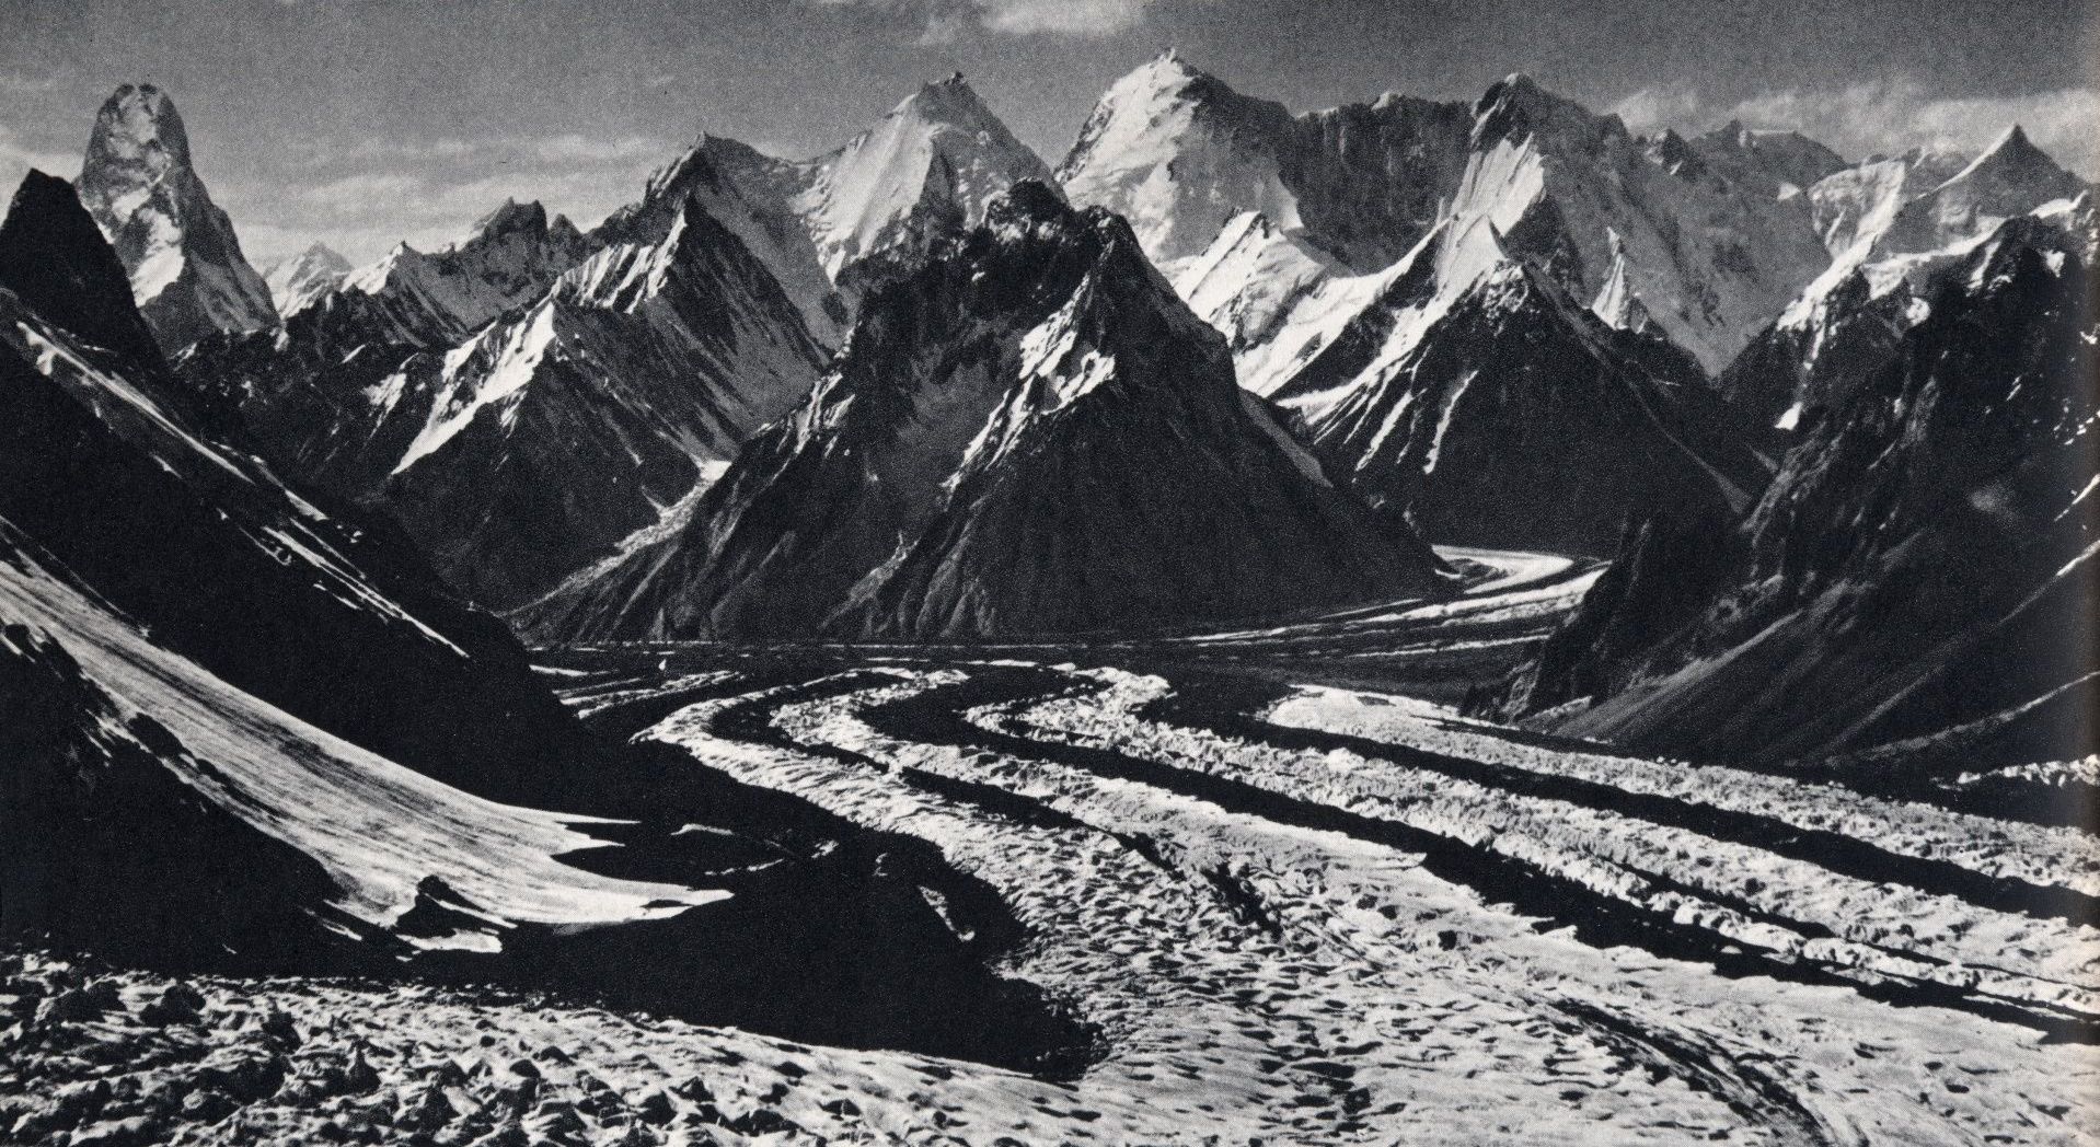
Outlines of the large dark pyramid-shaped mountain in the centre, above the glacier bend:
M693 525L527 613L563 637L1069 634L1428 590L1121 221L1035 185L878 292Z

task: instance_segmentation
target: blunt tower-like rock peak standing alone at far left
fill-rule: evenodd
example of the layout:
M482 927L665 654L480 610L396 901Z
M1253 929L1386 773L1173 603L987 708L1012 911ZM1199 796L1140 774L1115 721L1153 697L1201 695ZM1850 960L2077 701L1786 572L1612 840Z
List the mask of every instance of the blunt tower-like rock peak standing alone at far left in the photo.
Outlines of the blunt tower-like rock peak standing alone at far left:
M103 103L78 189L168 351L277 324L269 288L191 166L189 130L164 90L124 84Z

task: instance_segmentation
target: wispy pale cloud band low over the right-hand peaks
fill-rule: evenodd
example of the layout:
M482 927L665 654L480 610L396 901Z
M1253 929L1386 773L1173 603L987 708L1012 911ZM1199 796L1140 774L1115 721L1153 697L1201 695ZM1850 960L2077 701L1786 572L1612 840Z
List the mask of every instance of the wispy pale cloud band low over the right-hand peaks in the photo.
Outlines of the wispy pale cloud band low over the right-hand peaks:
M2066 168L2100 174L2100 90L2062 88L2018 97L1942 97L1913 78L1867 80L1842 88L1781 88L1737 103L1716 103L1688 84L1640 88L1613 111L1628 128L1703 130L1728 120L1751 128L1793 128L1848 158L1909 147L1978 151L2008 126L2026 128Z

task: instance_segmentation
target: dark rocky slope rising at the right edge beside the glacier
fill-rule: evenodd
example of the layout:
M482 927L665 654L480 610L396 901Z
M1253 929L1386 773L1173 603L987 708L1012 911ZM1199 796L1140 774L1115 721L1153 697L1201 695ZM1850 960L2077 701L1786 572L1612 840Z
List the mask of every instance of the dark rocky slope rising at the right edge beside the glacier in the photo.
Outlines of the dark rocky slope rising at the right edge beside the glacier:
M1516 708L1590 695L1562 729L1663 752L1800 758L1978 723L1976 760L2092 752L2066 716L2092 702L2100 588L2092 279L2045 231L2010 221L1966 258L1739 542L1638 536ZM1703 601L1640 590L1663 576Z

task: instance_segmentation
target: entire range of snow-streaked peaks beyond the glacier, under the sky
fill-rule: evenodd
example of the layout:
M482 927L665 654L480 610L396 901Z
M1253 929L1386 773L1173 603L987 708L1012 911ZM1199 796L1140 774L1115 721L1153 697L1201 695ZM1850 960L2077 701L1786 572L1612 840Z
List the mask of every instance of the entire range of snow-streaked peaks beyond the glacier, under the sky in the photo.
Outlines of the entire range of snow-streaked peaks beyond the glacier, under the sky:
M1726 674L1659 697L1829 586L1890 597L1802 664L1982 641L2014 603L1886 586L2056 595L2090 529L2035 456L2087 441L2041 315L2077 313L2043 279L2083 290L2092 187L2018 128L1852 164L1525 76L1292 113L1166 53L1054 168L958 76L817 160L701 137L590 231L502 204L361 269L256 275L147 86L78 187L145 321L109 347L538 641L1086 639L1434 597L1428 544L1619 555L1504 710L1814 754L1917 735L1928 685L1854 666L1829 721Z

